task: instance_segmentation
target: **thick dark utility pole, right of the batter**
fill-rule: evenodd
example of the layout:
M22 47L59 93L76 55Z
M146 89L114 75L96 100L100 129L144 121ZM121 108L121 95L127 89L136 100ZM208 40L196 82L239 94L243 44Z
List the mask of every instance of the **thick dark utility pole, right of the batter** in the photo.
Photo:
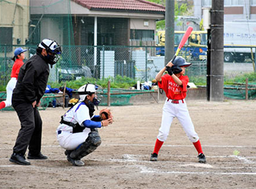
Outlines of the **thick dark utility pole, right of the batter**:
M210 11L210 31L208 31L208 60L207 63L207 99L223 101L223 24L224 0L212 0Z

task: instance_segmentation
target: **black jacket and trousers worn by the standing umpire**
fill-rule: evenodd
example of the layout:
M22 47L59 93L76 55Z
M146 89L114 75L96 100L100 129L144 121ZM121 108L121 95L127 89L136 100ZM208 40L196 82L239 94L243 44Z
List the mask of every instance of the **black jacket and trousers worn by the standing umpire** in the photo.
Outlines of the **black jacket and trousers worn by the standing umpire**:
M21 121L14 153L24 156L26 148L29 153L41 153L42 120L38 108L32 106L40 102L46 90L49 65L43 55L37 53L21 67L13 92L12 105Z

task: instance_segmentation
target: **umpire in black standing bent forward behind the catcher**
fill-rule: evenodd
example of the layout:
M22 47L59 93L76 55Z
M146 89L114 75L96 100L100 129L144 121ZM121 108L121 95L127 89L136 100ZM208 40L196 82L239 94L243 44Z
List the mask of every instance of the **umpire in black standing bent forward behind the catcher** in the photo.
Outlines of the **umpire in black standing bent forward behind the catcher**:
M12 104L21 121L14 153L9 161L20 165L30 165L25 153L28 148L28 159L47 159L41 153L42 119L38 112L41 97L46 90L49 76L49 65L58 62L61 54L57 42L44 39L36 49L36 55L29 58L21 67L13 92Z

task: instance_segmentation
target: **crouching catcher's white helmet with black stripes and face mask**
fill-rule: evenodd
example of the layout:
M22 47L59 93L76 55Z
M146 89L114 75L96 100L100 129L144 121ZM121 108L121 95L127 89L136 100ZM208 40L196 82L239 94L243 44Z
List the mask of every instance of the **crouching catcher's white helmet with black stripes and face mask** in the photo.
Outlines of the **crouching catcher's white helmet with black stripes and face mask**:
M96 95L96 92L98 90L98 86L97 85L93 85L93 84L85 84L85 85L82 85L82 87L80 87L78 89L78 95L80 97L80 100L85 100L86 96L87 95L92 95L92 94L95 94L95 98L93 99L93 104L95 104L95 106L99 105L100 104L100 100L102 97L102 95Z

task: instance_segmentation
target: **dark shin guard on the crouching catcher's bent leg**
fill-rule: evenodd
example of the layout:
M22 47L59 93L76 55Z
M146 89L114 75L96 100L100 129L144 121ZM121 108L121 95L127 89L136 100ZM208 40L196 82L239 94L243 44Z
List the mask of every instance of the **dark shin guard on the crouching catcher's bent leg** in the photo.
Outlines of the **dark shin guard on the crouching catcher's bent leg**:
M85 142L82 143L78 149L70 153L70 157L74 159L81 159L87 156L89 153L92 153L92 151L95 151L97 146L100 146L100 144L101 139L99 133L92 131L89 133Z

